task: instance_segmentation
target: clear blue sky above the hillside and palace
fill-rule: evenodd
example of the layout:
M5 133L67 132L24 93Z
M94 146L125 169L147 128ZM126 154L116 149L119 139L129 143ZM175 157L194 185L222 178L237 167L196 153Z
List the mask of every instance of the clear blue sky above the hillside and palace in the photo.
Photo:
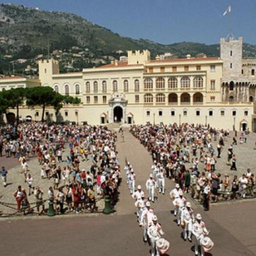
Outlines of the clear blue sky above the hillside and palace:
M78 14L122 36L170 44L218 43L230 24L235 37L256 44L256 0L0 0ZM231 15L223 12L231 3ZM231 18L231 19L230 19ZM231 22L230 22L231 20Z

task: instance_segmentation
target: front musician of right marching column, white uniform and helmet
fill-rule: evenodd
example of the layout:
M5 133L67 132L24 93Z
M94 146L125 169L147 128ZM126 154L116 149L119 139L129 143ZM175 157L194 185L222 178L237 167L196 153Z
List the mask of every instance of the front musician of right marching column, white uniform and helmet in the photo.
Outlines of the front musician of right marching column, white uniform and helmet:
M202 217L200 213L197 213L195 216L195 221L192 224L192 233L195 236L195 244L194 244L194 254L198 255L198 245L201 245L201 241L205 235L209 232L205 227L204 222L202 221ZM204 256L203 248L200 246L201 256Z

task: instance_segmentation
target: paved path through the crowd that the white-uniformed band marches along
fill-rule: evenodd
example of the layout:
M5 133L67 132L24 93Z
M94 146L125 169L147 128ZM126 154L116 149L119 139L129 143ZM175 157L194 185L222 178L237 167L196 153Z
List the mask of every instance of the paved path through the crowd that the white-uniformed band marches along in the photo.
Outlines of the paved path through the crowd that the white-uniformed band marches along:
M145 189L145 182L148 178L148 175L151 173L152 158L146 148L140 144L139 141L133 137L131 133L124 132L124 140L125 142L121 142L121 138L118 135L116 147L122 170L122 183L119 188L120 200L116 209L118 215L133 214L134 221L136 221L136 215L134 214L134 199L132 199L129 193L128 186L125 182L125 173L123 172L125 159L130 162L136 174L135 185L137 186L140 184L142 186L142 190L147 196L148 193ZM161 223L163 231L165 232L163 237L170 242L170 254L193 255L191 247L194 244L194 240L192 243L183 241L181 238L182 229L181 227L177 226L176 222L174 221L175 217L170 213L170 210L173 209L173 205L169 199L169 191L173 187L174 182L165 178L165 194L159 194L157 189L155 190L157 199L154 203L152 203L152 208L154 209L155 214L158 216L159 222ZM202 208L195 204L188 194L184 194L184 196L191 202L194 212L199 212L202 215L202 218L206 223L206 227L210 230L209 236L215 243L215 246L211 251L212 255L253 255L244 244L237 240L237 236L235 238L235 236L223 228L222 225L217 223L216 218L212 218L208 214L205 214ZM227 214L229 214L228 211ZM142 230L138 225L137 230L134 230L134 232L139 232L141 234L141 240L139 239L137 242L141 243L142 246Z

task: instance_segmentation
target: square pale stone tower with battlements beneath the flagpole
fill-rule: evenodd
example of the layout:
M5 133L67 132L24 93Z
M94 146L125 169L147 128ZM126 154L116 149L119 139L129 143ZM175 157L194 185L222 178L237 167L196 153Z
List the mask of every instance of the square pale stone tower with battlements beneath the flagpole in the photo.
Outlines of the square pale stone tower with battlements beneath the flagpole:
M222 80L239 79L242 69L242 37L220 38L220 58L223 60Z

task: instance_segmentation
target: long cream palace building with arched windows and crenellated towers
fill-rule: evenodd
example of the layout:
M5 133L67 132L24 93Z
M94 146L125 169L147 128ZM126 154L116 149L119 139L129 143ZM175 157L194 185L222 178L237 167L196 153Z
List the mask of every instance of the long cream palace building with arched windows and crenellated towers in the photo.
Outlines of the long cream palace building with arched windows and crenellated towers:
M38 69L41 86L81 98L82 104L63 106L62 121L188 122L255 130L255 63L256 59L242 58L239 37L220 39L220 57L187 54L186 58L151 59L148 50L136 50L128 51L123 61L84 68L78 73L60 74L58 61L53 59L39 60ZM0 79L1 88L6 87L4 82ZM14 86L19 81L13 79L9 84ZM41 109L23 107L20 113L39 120ZM48 108L46 114L57 118L53 108Z

